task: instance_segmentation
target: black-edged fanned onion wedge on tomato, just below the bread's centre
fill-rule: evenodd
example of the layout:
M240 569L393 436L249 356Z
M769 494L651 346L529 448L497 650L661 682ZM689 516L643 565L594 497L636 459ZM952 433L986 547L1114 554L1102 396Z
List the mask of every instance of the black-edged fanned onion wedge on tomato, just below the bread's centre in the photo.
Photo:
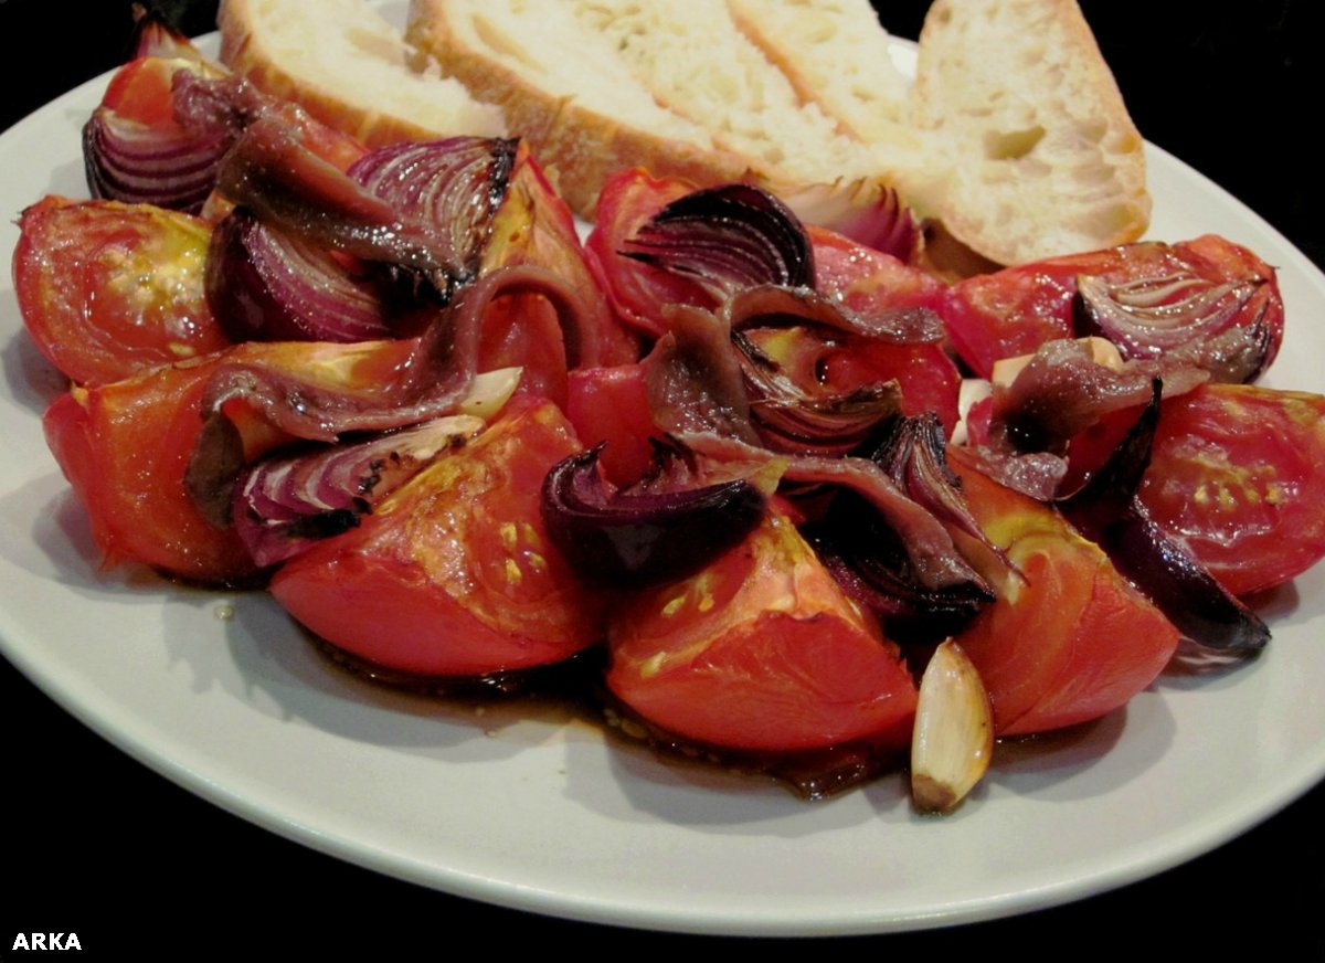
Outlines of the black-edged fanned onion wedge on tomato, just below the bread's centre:
M693 276L718 298L753 285L808 287L815 281L804 227L780 200L749 184L672 201L627 238L620 253Z

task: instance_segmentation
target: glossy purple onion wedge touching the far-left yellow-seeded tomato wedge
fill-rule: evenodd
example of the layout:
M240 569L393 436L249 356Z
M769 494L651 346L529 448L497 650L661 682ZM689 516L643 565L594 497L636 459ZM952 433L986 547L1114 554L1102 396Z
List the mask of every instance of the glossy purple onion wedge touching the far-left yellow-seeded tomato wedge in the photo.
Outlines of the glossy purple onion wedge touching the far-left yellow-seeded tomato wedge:
M390 338L376 287L326 250L237 209L212 233L207 303L244 340L356 342Z

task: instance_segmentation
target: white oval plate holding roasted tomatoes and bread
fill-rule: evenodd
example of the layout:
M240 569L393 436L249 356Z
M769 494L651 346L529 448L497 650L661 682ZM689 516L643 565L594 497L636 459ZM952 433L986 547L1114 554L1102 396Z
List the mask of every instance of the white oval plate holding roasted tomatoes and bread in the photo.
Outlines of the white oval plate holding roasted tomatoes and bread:
M0 136L12 213L82 195L78 128L105 81ZM1325 277L1230 196L1150 151L1151 234L1218 232L1280 266L1289 332L1268 383L1317 388ZM592 727L384 691L333 670L261 593L98 572L46 452L60 379L0 281L0 642L109 739L193 792L352 862L554 915L727 934L847 934L1019 913L1206 852L1325 774L1325 567L1277 593L1275 642L1224 674L1167 674L1125 711L1003 747L957 815L897 776L806 804L662 764Z

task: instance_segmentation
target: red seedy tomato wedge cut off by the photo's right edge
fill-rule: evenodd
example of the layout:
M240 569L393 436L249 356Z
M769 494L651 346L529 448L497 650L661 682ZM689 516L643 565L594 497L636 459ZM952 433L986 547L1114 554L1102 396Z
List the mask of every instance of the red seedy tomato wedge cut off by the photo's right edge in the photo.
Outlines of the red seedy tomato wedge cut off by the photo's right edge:
M1325 397L1206 384L1166 399L1138 491L1234 595L1325 556Z

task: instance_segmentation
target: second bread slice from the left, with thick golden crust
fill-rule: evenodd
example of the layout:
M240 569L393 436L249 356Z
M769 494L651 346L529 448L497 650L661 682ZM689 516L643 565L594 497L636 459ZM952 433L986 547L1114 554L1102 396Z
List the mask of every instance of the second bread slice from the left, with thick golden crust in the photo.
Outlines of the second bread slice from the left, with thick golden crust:
M702 184L749 176L745 159L660 106L564 3L413 0L405 37L502 111L584 217L603 181L625 167Z

